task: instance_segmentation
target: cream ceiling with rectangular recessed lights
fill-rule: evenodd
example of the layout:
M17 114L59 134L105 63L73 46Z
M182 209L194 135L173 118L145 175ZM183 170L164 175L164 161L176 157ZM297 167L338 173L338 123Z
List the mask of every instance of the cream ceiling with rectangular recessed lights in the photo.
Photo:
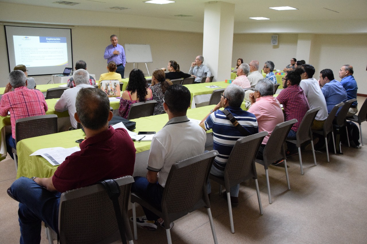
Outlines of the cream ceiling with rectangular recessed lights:
M54 4L58 0L0 0L0 2L38 5L53 8L68 8L111 12L135 16L150 16L163 19L188 20L203 22L204 3L208 0L175 0L170 4L149 4L143 0L68 0L80 4L74 6ZM289 21L330 21L360 20L367 25L367 0L225 0L235 4L235 26L241 23L284 22ZM269 7L290 6L298 10L277 11ZM110 10L109 7L126 7L127 10ZM327 10L328 8L330 10ZM331 11L333 10L333 11ZM337 11L337 12L334 12ZM193 15L192 17L175 17L174 15ZM256 21L249 17L266 17L270 20ZM322 22L321 22L322 23ZM169 22L167 22L169 25Z

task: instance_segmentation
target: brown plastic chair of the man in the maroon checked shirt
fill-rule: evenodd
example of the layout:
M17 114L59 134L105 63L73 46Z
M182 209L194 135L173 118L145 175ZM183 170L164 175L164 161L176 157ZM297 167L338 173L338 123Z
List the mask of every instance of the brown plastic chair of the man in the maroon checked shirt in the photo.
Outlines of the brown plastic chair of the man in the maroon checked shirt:
M303 166L302 166L302 156L301 156L301 144L310 141L312 147L312 154L313 154L313 162L316 163L316 156L315 156L315 148L313 148L313 139L312 139L312 132L311 132L311 125L313 120L316 117L317 112L321 109L321 107L310 109L306 112L305 116L303 117L301 124L298 127L296 133L296 140L286 139L290 143L296 144L298 147L298 157L299 157L299 165L301 166L301 174L303 175Z

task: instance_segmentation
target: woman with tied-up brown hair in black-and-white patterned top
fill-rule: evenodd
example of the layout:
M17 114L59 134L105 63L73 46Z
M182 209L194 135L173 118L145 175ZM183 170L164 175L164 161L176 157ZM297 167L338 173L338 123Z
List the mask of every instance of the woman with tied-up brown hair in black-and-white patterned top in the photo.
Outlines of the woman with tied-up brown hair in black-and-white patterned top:
M150 89L152 89L153 100L156 100L156 106L154 107L153 115L163 114L163 98L164 93L167 88L172 85L172 82L169 79L166 79L163 70L155 69L152 74L152 85L150 85Z

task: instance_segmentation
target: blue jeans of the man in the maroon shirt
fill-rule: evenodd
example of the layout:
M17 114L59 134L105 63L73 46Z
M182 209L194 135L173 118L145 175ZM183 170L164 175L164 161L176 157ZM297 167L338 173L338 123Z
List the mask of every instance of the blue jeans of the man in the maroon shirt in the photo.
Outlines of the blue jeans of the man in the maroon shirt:
M21 177L11 185L12 195L19 201L20 243L40 243L41 223L58 231L60 192L50 192L29 178Z

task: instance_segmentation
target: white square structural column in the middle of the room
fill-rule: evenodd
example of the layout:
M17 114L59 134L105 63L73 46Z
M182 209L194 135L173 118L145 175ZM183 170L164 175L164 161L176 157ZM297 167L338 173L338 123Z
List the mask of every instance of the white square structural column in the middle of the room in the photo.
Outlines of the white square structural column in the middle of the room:
M203 56L213 81L229 77L232 63L235 4L221 1L205 3Z

